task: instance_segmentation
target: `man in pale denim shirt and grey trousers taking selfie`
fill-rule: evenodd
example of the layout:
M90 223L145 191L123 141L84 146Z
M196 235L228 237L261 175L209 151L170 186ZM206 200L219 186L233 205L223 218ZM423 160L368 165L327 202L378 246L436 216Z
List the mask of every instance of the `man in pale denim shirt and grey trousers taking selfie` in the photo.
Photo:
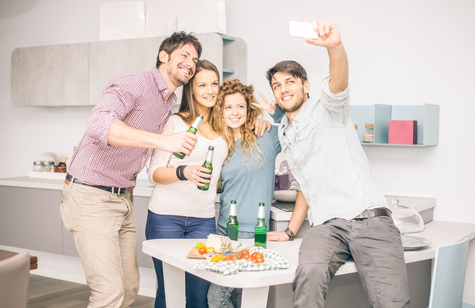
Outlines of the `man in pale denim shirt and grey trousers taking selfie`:
M281 122L282 151L299 183L288 228L267 233L267 240L292 240L308 215L312 227L292 283L295 307L324 307L330 279L350 257L373 308L409 307L399 230L349 117L348 60L340 32L331 22L312 23L319 37L305 41L326 47L330 57L320 99L309 97L305 69L282 61L267 71L277 103L264 97L266 105L255 103Z

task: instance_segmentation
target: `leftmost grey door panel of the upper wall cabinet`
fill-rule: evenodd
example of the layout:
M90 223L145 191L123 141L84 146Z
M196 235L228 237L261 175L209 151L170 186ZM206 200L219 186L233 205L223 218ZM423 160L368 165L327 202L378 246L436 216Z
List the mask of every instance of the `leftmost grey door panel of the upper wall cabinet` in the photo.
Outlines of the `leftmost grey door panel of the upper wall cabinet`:
M15 105L87 105L88 80L89 43L16 48L11 54Z

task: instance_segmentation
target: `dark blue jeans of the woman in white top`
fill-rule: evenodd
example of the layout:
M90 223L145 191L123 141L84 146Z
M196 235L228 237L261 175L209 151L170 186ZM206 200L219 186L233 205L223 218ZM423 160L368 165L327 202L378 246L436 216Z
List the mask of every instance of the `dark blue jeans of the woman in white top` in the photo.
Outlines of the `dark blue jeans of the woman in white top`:
M203 239L216 233L215 218L197 218L176 215L159 215L148 211L145 238L152 239ZM184 256L183 256L184 257ZM157 273L155 308L166 308L163 265L152 258ZM208 308L209 282L185 272L186 308ZM171 307L173 308L173 307Z

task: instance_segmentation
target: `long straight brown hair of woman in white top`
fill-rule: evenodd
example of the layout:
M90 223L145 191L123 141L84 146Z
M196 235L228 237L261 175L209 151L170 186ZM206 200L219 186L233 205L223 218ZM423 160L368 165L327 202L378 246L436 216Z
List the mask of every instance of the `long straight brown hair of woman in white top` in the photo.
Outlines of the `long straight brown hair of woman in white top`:
M185 123L191 123L198 116L198 109L196 108L196 102L192 95L193 80L199 72L204 70L215 72L216 76L218 77L219 84L218 68L208 60L198 60L198 63L196 64L195 75L191 77L188 84L183 85L183 94L181 95L180 108L178 109L178 113L176 113ZM213 114L213 109L214 107L211 107L211 110L209 111L210 117L208 119L208 123L210 125L213 122L213 117L211 116Z

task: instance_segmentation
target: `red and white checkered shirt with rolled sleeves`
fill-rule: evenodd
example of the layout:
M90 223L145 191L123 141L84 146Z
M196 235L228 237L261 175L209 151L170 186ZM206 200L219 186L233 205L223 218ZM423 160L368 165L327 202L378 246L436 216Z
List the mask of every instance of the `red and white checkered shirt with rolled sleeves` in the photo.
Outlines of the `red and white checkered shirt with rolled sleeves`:
M89 116L68 173L86 184L135 187L133 177L142 171L153 149L108 145L109 127L120 120L133 128L159 133L177 103L175 93L165 100L167 94L168 87L157 68L112 79Z

